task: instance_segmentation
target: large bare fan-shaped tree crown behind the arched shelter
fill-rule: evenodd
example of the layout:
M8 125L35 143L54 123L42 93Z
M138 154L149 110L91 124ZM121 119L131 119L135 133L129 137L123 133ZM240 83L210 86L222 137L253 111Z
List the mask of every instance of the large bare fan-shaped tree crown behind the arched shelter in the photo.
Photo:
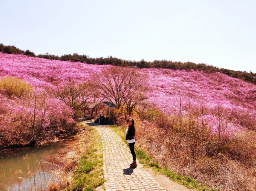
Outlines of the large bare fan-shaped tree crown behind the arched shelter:
M125 105L129 113L146 99L142 92L147 76L137 69L110 66L100 74L91 75L91 78L105 99L118 108Z

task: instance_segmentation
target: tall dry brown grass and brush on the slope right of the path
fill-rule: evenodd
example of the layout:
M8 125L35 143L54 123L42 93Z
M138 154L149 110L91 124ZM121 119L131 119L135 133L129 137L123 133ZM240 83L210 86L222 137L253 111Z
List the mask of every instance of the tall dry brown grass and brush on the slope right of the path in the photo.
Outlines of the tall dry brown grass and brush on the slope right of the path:
M181 125L177 117L157 115L154 119L133 116L136 143L155 162L208 187L256 190L255 131L228 138L213 135L196 118Z

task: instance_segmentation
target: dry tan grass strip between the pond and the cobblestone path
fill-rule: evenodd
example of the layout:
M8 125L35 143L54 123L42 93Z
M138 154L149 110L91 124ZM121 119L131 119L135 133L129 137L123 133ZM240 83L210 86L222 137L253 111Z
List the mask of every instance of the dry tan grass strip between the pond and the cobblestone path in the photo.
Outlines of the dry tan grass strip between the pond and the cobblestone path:
M78 177L76 173L77 171L79 171L78 168L81 168L82 163L86 163L86 165L90 164L90 162L85 162L84 160L87 159L87 157L88 160L99 160L99 156L101 155L101 145L98 145L98 148L95 149L97 150L97 156L94 156L95 159L88 156L90 155L89 153L91 152L92 144L96 145L94 143L95 141L100 142L98 140L99 137L95 138L94 134L96 134L96 132L94 132L92 128L85 128L84 126L81 126L81 124L80 128L82 128L83 131L82 133L74 136L73 143L67 145L65 149L58 152L52 159L52 162L56 166L55 170L52 171L52 175L54 175L55 180L49 183L49 186L47 188L49 191L56 191L62 189L73 190L74 184L76 184L76 179ZM100 165L99 163L94 164ZM99 179L102 174L102 165L96 167L94 166L93 169L96 169L98 174L95 172L92 172L92 174L95 174L97 179ZM93 176L91 176L91 178L91 182L97 182L96 180L94 180ZM83 183L84 182L82 182L81 184ZM102 183L98 182L98 184ZM78 190L81 190L81 188Z

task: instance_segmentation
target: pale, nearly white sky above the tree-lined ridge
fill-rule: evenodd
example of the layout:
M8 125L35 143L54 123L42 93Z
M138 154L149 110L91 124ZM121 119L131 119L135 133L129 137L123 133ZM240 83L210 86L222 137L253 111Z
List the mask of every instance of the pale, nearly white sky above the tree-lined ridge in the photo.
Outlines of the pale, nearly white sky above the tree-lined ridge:
M256 73L255 10L255 0L0 0L0 43Z

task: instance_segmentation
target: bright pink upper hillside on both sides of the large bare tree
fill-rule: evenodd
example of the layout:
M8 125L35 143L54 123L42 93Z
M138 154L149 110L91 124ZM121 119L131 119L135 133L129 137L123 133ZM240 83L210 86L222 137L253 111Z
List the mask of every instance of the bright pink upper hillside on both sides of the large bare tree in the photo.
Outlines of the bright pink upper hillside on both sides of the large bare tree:
M74 80L88 81L108 65L48 60L0 53L0 76L15 76L45 88ZM139 69L148 75L147 102L166 115L182 115L190 107L203 107L208 125L217 131L217 110L221 109L226 130L254 129L256 125L256 85L222 73L170 69ZM180 97L181 95L181 97ZM180 105L181 104L181 105ZM180 107L181 106L181 107Z

